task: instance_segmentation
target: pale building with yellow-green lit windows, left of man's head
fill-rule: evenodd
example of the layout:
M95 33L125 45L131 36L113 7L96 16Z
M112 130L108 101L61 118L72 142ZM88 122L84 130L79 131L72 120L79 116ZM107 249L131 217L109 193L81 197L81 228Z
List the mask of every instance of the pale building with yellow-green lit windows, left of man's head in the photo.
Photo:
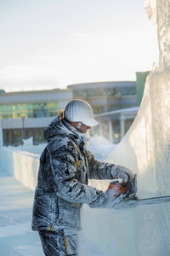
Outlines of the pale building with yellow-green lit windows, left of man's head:
M17 146L28 137L42 143L45 127L71 99L70 89L0 93L3 145Z

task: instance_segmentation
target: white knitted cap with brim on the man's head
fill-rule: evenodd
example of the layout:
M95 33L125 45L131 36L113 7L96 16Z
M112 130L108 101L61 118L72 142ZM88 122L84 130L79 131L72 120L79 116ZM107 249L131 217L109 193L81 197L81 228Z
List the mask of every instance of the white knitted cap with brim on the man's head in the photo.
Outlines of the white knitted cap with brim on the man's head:
M82 100L72 100L66 105L65 119L70 122L82 122L87 126L99 125L94 119L94 111L88 102Z

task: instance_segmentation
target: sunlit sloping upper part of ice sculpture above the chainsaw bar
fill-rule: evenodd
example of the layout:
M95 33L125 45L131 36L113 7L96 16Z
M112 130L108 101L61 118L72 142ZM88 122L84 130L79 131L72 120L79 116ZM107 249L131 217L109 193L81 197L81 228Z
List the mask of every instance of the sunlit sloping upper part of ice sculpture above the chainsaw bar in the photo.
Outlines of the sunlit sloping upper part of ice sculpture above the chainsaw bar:
M145 8L157 23L159 65L148 75L139 113L109 160L138 173L139 192L170 195L170 2L148 0Z

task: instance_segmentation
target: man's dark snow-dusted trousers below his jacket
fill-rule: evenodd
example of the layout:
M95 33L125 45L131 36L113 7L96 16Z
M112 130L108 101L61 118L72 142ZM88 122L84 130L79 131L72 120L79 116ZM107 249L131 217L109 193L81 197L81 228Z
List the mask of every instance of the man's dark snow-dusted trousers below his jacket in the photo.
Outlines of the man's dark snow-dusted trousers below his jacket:
M46 256L77 256L76 230L39 230L38 232Z

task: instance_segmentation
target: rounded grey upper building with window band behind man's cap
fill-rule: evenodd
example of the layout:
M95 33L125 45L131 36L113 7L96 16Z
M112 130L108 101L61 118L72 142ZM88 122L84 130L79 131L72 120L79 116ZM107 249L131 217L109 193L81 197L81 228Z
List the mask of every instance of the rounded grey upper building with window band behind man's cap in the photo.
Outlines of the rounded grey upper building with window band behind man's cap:
M71 84L73 98L87 101L94 113L105 113L117 109L136 107L136 82L98 82Z

